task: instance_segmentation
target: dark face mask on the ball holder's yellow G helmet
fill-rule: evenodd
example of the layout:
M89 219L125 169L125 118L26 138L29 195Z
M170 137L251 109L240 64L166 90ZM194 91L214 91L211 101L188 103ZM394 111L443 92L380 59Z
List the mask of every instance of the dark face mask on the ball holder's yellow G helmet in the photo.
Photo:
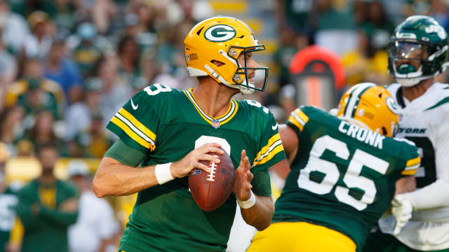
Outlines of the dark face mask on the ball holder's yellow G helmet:
M237 57L239 57L239 55L236 55L236 53L232 53L233 51L236 52L235 49L243 49L242 52L243 52L244 63L245 63L243 67L239 64L239 61L237 60ZM234 82L237 85L241 85L242 87L250 88L253 90L259 90L259 91L265 90L265 86L267 85L267 80L268 80L269 68L268 67L248 67L246 64L246 53L257 52L260 50L265 50L265 45L255 45L255 46L250 46L250 47L236 46L236 45L229 46L227 55L229 57L231 57L232 59L234 59L236 62L236 65L238 66L237 71L234 73L234 78L232 78L232 80L234 80ZM262 87L257 87L254 83L250 83L248 81L247 70L263 70L264 71L264 83L263 83ZM245 79L240 80L240 81L236 80L236 76L239 76L239 74L243 74L245 76Z

